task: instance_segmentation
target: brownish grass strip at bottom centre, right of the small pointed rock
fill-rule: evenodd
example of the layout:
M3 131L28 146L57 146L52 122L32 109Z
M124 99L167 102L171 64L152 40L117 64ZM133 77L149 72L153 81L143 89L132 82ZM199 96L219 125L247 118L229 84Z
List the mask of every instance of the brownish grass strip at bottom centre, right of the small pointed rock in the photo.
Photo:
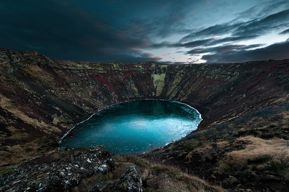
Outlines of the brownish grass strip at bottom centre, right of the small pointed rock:
M179 167L150 163L135 155L121 155L115 157L117 162L131 163L142 180L146 183L143 191L226 191L220 186L210 185L207 181L182 172Z

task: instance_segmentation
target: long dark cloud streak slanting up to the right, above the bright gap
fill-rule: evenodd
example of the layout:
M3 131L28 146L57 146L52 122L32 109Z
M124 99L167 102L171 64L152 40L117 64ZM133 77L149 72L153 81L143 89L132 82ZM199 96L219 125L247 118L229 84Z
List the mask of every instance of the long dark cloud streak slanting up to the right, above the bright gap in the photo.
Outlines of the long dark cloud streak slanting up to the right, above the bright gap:
M208 27L201 31L190 33L189 35L183 37L178 43L162 42L159 44L151 45L151 48L161 48L161 47L193 48L198 46L213 46L221 43L254 39L267 33L270 33L272 31L288 26L288 18L289 18L289 9L281 11L276 14L269 15L262 19L253 19L247 22L238 22L233 24L231 22L227 22L224 24ZM224 35L230 36L220 38ZM199 40L191 41L192 39L199 39Z

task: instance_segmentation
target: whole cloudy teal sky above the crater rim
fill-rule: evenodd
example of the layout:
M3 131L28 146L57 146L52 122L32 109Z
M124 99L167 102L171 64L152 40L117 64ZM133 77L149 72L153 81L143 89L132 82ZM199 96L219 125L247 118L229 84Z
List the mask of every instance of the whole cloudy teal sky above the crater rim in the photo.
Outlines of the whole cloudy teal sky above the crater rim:
M0 47L97 62L286 59L289 1L1 0Z

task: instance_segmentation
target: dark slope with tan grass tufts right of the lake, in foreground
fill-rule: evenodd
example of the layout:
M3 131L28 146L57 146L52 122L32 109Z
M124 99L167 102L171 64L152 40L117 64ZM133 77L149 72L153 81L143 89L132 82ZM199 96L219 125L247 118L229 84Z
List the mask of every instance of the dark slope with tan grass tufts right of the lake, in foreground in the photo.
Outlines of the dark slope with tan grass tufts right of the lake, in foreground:
M230 191L288 191L288 131L289 105L266 107L140 156L179 166Z

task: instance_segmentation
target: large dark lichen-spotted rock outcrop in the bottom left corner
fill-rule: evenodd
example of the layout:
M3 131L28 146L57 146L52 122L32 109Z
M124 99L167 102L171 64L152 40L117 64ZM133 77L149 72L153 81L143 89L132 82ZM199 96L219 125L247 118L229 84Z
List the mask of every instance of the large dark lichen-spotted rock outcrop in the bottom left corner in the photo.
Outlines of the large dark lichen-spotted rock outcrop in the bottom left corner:
M67 191L82 179L107 173L114 166L114 159L104 145L79 148L12 167L0 179L0 191Z

